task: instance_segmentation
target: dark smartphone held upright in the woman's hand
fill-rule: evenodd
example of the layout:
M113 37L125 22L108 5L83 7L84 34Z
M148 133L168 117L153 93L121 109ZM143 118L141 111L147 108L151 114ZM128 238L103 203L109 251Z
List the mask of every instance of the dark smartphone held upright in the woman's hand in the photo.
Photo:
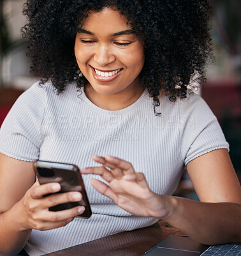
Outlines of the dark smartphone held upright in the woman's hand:
M91 217L91 206L85 191L80 170L77 166L66 163L35 161L34 170L40 184L58 182L61 185L61 190L57 193L65 193L69 191L79 191L82 193L83 198L80 202L68 202L66 204L55 205L50 207L49 211L62 211L78 205L83 205L85 207L85 211L77 217L86 219Z

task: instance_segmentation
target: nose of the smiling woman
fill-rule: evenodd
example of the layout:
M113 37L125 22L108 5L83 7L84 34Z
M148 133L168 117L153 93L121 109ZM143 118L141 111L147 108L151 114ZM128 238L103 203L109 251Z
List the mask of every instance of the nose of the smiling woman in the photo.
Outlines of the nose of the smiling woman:
M94 61L96 61L99 66L106 66L115 61L115 56L112 54L110 48L111 47L105 44L98 45L96 53L94 54Z

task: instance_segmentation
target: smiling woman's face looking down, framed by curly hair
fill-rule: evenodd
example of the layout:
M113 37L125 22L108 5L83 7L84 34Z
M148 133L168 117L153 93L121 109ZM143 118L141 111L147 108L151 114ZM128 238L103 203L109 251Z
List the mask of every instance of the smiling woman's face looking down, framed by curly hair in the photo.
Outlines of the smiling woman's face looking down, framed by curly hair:
M75 40L75 56L94 90L112 95L140 87L143 45L127 20L112 8L91 12ZM132 91L133 92L133 91Z

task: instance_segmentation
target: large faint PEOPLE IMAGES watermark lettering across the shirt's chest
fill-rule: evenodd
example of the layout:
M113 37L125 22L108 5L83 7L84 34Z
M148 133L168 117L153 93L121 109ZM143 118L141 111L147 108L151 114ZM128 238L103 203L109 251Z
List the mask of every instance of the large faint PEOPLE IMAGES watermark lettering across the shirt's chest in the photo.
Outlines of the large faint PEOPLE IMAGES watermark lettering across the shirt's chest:
M196 118L192 116L87 116L82 119L80 116L48 116L43 125L45 130L119 130L135 131L143 129L195 129Z

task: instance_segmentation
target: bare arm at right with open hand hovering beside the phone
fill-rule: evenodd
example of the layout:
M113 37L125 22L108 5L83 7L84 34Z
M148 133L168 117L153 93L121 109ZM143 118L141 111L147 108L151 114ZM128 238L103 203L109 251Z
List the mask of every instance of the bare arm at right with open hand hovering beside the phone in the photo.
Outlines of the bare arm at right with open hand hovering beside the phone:
M126 161L109 156L93 159L103 167L82 173L101 175L109 186L95 179L92 186L126 211L166 220L200 243L241 241L241 189L227 150L214 150L187 165L201 202L153 193L143 174L135 173Z

